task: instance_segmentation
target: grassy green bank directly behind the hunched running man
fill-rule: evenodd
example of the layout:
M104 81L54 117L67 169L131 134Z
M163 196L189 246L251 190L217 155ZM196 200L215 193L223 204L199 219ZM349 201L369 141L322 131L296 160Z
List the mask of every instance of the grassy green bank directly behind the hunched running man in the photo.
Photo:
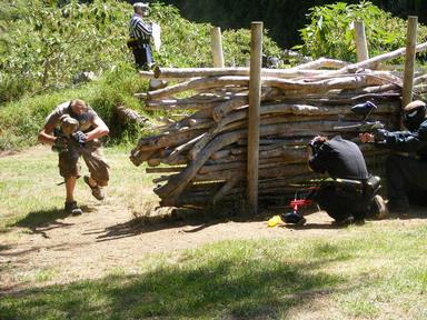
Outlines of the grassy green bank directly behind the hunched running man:
M126 136L129 132L115 130L117 123L113 108L127 106L143 114L141 103L133 97L133 93L146 90L147 86L147 80L138 77L129 63L121 63L113 70L105 72L99 81L81 88L50 91L7 103L0 108L0 150L34 144L49 112L57 104L75 98L87 100L111 128L113 139L120 140L121 134ZM130 129L137 133L136 128Z

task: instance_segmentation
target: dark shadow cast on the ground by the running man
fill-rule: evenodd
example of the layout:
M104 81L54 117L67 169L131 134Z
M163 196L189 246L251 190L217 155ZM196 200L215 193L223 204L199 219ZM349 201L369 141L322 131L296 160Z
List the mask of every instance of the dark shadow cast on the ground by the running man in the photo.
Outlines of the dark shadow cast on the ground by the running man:
M81 207L81 209L83 210L83 214L85 212L90 211L90 209L87 207ZM39 233L44 238L49 238L46 234L46 231L73 224L58 221L69 216L70 214L62 209L32 211L28 213L24 218L18 220L11 227L28 228L33 233Z

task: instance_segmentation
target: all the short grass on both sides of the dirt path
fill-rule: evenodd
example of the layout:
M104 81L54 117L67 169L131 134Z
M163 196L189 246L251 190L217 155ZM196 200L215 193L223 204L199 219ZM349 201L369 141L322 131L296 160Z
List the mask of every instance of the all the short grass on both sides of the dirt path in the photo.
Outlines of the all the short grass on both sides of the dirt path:
M108 201L142 208L152 177L130 163L128 147L106 151ZM63 218L54 153L30 149L0 158L0 237ZM85 206L90 194L78 183ZM26 283L1 297L0 319L426 319L427 223L419 221L368 222L309 237L284 230L280 239L186 251L171 244L170 252L141 252L136 264L110 268L96 280L67 283L49 266L19 273L0 260L0 279L16 274ZM0 257L8 249L0 244Z

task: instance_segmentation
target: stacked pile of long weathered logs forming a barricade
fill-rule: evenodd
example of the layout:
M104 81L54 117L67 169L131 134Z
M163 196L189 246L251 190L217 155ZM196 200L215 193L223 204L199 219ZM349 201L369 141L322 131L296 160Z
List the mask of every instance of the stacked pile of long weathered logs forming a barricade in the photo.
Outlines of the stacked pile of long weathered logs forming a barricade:
M306 146L312 137L357 137L356 131L336 129L360 121L350 111L354 104L374 101L378 109L369 120L398 129L403 79L367 69L378 61L378 57L356 64L319 59L291 69L262 69L260 203L289 197L292 183L319 177L306 164ZM192 112L160 128L158 134L141 138L131 151L136 166L147 162L148 173L161 174L153 180L160 206L205 208L245 198L249 69L157 68L140 76L177 81L138 93L146 109ZM385 154L369 144L360 148L368 166Z

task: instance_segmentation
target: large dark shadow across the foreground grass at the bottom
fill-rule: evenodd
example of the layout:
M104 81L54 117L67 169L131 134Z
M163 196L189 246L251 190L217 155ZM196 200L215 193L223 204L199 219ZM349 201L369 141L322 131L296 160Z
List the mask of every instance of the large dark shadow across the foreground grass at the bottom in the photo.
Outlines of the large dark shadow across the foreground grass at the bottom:
M186 257L185 257L186 259ZM347 292L348 280L319 271L331 262L216 258L159 267L139 276L24 290L0 300L2 319L277 319L320 297ZM198 260L199 261L199 260ZM200 266L201 264L201 266ZM351 284L355 286L355 284Z

